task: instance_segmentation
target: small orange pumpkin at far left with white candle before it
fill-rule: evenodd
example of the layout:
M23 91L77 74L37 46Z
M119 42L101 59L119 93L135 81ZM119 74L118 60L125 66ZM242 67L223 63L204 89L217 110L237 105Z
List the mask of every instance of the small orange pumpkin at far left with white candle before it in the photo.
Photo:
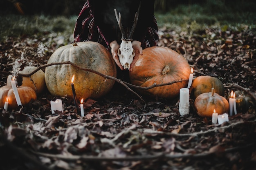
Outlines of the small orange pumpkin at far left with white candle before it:
M27 105L32 99L36 99L36 92L31 87L19 86L17 89L22 105ZM8 108L18 107L12 86L2 86L0 88L0 108L4 107L6 97L8 97L9 102Z

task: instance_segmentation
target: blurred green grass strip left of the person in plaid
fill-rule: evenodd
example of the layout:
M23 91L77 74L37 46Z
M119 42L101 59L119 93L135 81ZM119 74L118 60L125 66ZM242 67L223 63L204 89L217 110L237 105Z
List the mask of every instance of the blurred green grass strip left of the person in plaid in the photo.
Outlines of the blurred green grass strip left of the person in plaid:
M0 40L7 37L43 35L57 33L64 36L66 43L72 41L77 16L6 15L0 16Z

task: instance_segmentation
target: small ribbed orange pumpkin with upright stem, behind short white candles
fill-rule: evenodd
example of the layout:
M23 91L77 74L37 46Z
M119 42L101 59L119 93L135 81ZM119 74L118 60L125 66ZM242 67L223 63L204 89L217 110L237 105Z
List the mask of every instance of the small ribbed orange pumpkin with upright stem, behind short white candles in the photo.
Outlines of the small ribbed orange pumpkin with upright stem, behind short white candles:
M213 110L216 110L218 115L228 113L229 102L225 97L214 93L214 88L211 88L211 92L202 93L196 97L194 102L195 110L199 116L212 117Z

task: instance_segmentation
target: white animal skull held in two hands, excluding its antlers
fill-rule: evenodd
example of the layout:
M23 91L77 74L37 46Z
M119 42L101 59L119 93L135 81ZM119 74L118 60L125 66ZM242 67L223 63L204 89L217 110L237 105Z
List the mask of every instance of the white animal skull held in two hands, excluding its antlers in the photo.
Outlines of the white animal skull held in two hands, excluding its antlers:
M135 51L132 48L132 41L122 40L117 55L119 56L119 61L124 69L130 69L130 64L132 63L135 55Z

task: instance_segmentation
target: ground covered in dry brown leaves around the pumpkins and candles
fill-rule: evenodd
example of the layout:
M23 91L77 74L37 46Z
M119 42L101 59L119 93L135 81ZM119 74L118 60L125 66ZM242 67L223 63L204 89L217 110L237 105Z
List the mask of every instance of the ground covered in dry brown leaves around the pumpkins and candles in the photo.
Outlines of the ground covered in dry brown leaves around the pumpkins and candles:
M203 28L181 31L159 28L159 46L187 58L194 77L211 75L231 90L245 88L255 97L256 30ZM0 71L40 66L64 45L63 36L7 37L0 42ZM0 86L6 84L2 74ZM52 114L50 101L60 98L63 113ZM181 117L179 98L145 96L140 101L120 84L106 96L85 102L85 117L72 99L47 91L28 106L0 109L0 169L3 170L249 170L256 167L255 106L222 125L190 113Z

